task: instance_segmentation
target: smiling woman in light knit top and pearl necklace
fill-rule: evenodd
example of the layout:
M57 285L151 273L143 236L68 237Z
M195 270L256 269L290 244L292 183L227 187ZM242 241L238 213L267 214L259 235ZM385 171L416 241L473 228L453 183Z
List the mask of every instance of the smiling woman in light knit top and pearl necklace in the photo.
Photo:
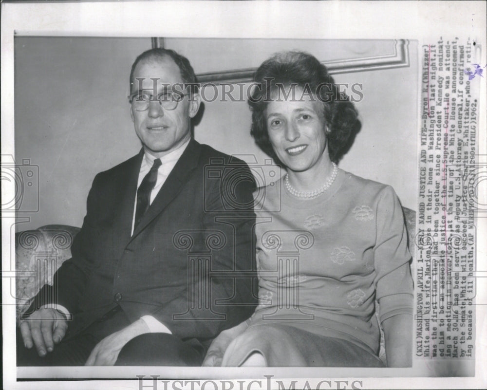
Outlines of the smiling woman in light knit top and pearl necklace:
M269 58L254 81L251 134L287 173L255 193L259 306L204 365L383 367L380 323L387 366L410 366L401 205L391 186L337 167L360 129L356 109L306 53Z

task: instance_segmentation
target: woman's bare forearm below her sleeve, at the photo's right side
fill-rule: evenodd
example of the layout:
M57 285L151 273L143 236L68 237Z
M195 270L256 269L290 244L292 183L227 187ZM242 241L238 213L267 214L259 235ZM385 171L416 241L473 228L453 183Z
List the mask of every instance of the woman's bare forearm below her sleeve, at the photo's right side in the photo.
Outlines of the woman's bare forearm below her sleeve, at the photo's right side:
M412 315L398 314L382 321L387 367L412 366Z

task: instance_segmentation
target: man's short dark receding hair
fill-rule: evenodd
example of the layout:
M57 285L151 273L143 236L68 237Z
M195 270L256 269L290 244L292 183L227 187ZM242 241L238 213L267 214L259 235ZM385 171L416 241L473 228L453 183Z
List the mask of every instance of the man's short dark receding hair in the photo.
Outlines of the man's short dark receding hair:
M160 61L164 58L170 57L176 63L181 72L181 78L185 84L196 84L196 75L194 74L193 67L189 63L189 60L185 56L181 56L180 54L176 53L174 50L171 49L163 49L160 47L150 49L139 55L135 58L135 61L132 64L132 69L130 71L130 91L133 84L133 73L135 71L135 67L139 63L144 62L151 62L151 61ZM198 91L198 86L190 88L191 92Z

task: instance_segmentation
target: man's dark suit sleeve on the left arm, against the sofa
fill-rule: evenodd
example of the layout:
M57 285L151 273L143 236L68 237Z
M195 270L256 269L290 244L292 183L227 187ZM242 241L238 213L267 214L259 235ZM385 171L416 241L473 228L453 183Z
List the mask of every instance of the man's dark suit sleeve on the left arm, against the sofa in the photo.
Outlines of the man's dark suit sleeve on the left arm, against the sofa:
M41 307L53 307L53 305L61 305L70 313L76 313L78 298L83 293L93 264L87 248L90 247L90 237L94 235L93 216L96 212L95 200L99 182L100 177L97 175L88 194L87 213L83 226L71 246L71 259L64 261L56 271L52 286L46 284L40 289L25 316L29 316Z

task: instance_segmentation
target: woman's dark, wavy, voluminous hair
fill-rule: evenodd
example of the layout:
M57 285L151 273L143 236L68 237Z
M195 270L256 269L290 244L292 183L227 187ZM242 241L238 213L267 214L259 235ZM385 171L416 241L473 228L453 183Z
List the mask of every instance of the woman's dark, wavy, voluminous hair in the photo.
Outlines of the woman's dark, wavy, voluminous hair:
M248 100L252 111L250 134L277 164L282 165L269 140L265 109L272 93L283 91L286 86L299 86L305 93L310 91L313 98L322 102L324 128L329 129L326 137L330 159L337 163L348 151L361 127L358 112L348 96L339 91L333 77L316 57L297 51L277 53L262 63L254 75L254 81L256 88Z

